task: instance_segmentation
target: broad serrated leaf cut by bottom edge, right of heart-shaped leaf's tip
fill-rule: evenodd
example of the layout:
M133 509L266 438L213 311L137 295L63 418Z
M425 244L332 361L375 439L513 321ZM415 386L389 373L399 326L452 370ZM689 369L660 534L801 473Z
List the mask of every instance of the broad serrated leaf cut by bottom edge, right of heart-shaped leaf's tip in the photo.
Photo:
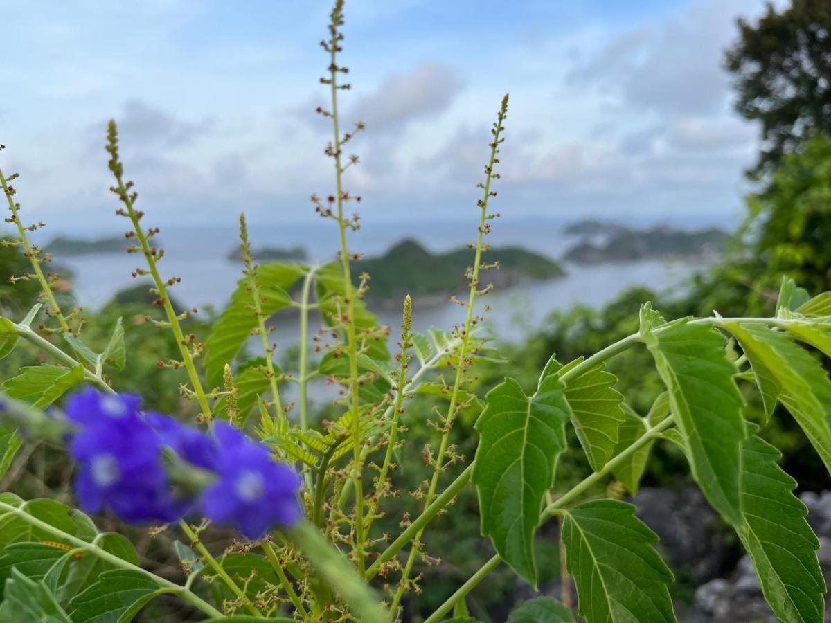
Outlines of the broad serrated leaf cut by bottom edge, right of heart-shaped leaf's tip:
M672 572L632 504L597 500L561 513L566 567L588 623L676 620L667 588Z

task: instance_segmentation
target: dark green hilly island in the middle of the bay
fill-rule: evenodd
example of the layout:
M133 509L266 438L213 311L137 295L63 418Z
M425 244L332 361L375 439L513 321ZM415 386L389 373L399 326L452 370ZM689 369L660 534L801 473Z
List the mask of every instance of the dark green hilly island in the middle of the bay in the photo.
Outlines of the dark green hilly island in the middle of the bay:
M481 287L511 287L520 282L563 277L558 262L539 253L518 247L492 248L483 256L484 262L499 262L499 269L484 272ZM465 268L473 262L469 248L447 253L430 253L412 239L405 239L384 255L362 259L357 272L371 275L366 296L376 301L401 302L406 294L419 297L449 297L465 291Z

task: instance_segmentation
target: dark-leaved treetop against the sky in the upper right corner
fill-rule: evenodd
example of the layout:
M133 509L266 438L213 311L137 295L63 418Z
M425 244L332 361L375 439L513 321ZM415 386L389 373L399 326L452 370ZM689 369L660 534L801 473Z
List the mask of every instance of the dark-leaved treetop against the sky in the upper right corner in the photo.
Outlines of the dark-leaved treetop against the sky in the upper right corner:
M735 75L735 108L761 122L756 174L770 173L785 154L816 134L831 134L831 3L769 3L756 23L739 19L726 52Z

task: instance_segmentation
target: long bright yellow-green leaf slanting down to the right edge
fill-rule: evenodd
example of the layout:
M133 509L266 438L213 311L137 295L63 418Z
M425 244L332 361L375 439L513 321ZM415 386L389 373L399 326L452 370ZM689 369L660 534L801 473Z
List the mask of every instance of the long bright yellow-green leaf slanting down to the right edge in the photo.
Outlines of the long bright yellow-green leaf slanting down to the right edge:
M784 405L831 471L831 381L823 366L782 331L756 322L725 328L745 351L762 396Z

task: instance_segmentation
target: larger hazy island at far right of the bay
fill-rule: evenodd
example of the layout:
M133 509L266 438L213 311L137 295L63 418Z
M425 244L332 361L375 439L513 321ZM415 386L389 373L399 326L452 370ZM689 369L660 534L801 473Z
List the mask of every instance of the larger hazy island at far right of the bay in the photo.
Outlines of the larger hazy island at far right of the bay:
M715 258L724 252L729 239L730 234L719 228L689 231L666 225L648 229L617 226L617 231L609 233L605 242L583 239L569 248L563 258L581 264Z

